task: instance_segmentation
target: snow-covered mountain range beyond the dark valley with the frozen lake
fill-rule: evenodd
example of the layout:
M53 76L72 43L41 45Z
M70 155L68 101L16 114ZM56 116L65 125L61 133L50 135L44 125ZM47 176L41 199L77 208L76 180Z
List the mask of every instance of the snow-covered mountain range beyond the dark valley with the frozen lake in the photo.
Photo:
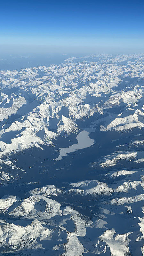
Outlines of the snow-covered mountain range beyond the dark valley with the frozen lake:
M52 145L57 136L78 131L77 119L103 115L105 109L116 106L123 106L123 112L105 118L108 128L143 127L143 56L74 60L0 72L1 156Z

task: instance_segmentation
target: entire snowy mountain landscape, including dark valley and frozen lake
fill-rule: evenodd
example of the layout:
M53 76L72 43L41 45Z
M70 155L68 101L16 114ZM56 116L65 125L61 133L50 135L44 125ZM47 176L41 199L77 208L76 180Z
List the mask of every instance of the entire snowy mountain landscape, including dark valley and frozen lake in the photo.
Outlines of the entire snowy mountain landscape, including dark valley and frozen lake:
M143 54L0 71L0 252L144 256L143 146Z

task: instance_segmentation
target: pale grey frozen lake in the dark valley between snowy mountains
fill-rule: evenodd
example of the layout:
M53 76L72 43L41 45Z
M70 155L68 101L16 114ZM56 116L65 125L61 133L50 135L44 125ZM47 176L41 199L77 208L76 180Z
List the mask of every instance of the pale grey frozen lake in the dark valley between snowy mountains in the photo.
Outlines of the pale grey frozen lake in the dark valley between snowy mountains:
M68 153L73 152L78 149L82 148L89 148L94 144L94 140L92 140L89 137L90 132L87 131L89 129L85 129L84 131L80 132L76 140L78 141L77 144L73 144L72 146L69 146L68 148L60 148L60 156L57 157L55 160L61 160L63 156L67 156ZM92 131L92 129L91 129Z

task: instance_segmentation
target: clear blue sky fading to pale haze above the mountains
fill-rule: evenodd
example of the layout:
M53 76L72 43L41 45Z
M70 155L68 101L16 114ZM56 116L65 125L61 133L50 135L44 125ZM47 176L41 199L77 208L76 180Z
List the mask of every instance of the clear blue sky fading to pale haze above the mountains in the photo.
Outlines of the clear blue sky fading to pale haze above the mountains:
M143 13L142 0L1 1L1 49L140 52Z

